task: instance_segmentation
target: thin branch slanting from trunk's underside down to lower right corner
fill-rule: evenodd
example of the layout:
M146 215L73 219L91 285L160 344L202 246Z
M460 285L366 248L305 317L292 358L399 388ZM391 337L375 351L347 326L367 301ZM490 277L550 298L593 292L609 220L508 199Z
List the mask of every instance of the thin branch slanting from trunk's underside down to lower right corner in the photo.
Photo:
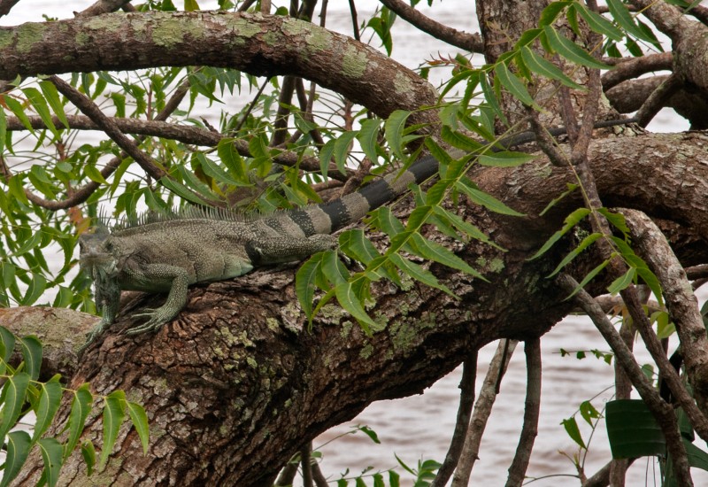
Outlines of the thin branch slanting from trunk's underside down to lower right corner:
M568 294L571 294L579 285L578 282L567 274L559 275L557 282ZM629 380L643 398L644 404L646 404L651 414L657 419L658 425L666 438L666 448L673 460L673 468L678 484L686 487L692 486L693 481L690 477L689 461L686 457L686 449L683 447L681 441L681 434L679 433L676 416L673 414L673 407L666 404L666 402L659 397L658 391L654 389L649 379L643 374L639 364L635 361L634 355L629 351L627 345L622 341L620 334L612 325L612 321L607 318L600 305L597 305L588 292L586 290L579 290L573 299L576 304L580 305L582 309L585 310L585 313L588 313L588 316L595 323L596 328L600 331L604 340L612 348L615 359L620 362Z

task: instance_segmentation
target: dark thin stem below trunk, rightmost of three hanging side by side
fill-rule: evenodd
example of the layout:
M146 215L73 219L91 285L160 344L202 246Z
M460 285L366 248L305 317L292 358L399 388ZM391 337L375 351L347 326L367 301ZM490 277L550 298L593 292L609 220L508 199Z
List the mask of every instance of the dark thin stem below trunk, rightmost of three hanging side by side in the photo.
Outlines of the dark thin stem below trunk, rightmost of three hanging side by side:
M541 412L541 339L527 340L524 344L527 367L526 402L524 405L524 425L519 435L519 446L509 468L506 487L520 486L526 476L531 451L538 435L538 418Z

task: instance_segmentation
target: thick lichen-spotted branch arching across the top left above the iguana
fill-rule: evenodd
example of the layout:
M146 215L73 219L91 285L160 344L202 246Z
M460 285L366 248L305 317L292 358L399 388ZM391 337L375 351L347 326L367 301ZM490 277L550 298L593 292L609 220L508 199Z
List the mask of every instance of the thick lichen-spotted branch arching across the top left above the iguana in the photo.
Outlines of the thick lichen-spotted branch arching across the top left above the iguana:
M32 35L27 34L28 31ZM435 89L373 48L302 20L244 12L106 13L2 27L0 79L156 66L217 66L292 74L381 117L437 103ZM34 39L19 43L19 37ZM120 39L120 42L118 42ZM435 124L434 111L412 123Z

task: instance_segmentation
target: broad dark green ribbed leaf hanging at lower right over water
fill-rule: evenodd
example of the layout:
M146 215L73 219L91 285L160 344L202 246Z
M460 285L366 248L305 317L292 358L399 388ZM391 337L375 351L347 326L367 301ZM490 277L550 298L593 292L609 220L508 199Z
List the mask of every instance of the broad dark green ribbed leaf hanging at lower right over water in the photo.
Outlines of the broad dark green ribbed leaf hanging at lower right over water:
M643 400L609 401L604 414L612 458L666 454L664 435Z

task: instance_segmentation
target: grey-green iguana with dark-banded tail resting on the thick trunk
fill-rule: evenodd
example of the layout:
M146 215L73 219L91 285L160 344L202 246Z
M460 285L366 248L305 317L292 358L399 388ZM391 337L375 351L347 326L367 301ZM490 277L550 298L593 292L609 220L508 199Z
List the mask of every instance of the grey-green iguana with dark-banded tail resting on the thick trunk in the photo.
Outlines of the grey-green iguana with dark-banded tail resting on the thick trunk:
M610 120L597 127L632 121ZM551 135L565 133L562 129L556 132ZM499 145L506 148L534 140L533 133L523 133ZM461 157L458 152L453 157ZM121 290L168 293L164 305L136 315L148 321L127 334L157 330L187 304L189 285L231 279L255 267L302 260L333 249L337 239L332 233L402 195L411 183L424 182L437 169L435 158L426 156L400 174L389 174L334 201L255 220L189 210L157 220L143 217L110 233L101 227L85 233L79 239L81 268L94 279L96 307L102 314L87 344L115 320Z

